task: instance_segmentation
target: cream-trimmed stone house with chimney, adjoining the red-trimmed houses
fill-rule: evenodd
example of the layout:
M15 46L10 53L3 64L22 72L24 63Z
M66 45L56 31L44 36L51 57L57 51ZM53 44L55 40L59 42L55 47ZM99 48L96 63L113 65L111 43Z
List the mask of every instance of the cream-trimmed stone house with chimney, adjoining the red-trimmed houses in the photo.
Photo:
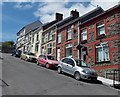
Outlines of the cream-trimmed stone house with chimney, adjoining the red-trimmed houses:
M63 20L63 14L56 13L55 20L43 25L41 53L56 57L56 23Z

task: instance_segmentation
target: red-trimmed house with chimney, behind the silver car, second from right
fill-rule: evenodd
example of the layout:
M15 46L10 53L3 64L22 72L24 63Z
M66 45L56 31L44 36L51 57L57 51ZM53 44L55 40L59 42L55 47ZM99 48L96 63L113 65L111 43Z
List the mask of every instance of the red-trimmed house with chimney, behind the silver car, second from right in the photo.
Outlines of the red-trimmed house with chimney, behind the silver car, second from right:
M57 24L56 56L57 60L63 57L78 57L78 18L79 12L71 11L70 17Z

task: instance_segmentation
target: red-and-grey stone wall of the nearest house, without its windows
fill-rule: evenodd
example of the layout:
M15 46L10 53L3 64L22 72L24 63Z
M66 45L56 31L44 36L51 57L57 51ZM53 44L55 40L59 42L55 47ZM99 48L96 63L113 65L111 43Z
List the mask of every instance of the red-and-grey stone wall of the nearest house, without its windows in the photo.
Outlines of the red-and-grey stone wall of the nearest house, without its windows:
M112 14L111 14L112 13ZM95 45L100 43L96 40L96 24L104 20L106 37L102 42L108 41L110 62L96 63ZM98 71L109 70L120 67L120 11L113 10L112 12L103 14L102 16L80 25L80 30L87 28L87 47L88 55L86 62ZM102 73L103 74L103 73Z

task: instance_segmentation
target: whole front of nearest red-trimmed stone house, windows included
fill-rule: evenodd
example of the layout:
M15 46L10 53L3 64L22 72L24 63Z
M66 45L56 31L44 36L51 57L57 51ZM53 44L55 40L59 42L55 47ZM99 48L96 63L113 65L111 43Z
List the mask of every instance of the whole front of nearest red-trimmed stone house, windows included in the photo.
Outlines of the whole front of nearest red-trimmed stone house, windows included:
M87 47L85 61L103 76L105 71L120 68L120 5L80 25L81 44ZM86 29L86 42L82 31ZM81 49L79 49L81 50Z

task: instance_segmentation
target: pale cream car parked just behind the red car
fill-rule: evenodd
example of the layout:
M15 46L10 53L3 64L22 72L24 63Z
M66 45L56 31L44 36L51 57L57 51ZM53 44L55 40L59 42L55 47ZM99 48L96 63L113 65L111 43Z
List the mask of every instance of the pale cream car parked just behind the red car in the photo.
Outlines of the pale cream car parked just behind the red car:
M36 62L36 55L31 52L23 52L20 58L26 61Z

